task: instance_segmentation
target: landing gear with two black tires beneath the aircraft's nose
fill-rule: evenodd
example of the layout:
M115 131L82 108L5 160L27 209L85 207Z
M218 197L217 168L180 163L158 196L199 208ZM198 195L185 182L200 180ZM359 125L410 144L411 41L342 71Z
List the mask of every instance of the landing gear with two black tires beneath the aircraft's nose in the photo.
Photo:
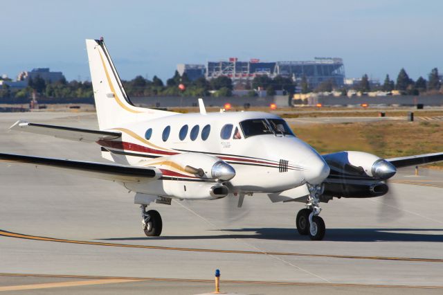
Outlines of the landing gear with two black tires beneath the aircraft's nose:
M307 184L309 196L307 200L307 208L298 211L296 218L297 231L300 235L309 235L311 240L323 240L326 227L320 214L320 201L318 197L323 193L322 186L312 186Z

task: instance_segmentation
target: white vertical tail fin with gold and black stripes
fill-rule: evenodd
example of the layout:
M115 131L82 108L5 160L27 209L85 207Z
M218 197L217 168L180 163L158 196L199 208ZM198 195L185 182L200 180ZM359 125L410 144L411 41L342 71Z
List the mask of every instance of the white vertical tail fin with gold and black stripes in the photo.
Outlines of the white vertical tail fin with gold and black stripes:
M145 109L132 105L103 39L87 39L86 45L94 99L96 100L98 126L101 130L120 127L125 123L141 120L141 118L149 120L175 114L170 111Z

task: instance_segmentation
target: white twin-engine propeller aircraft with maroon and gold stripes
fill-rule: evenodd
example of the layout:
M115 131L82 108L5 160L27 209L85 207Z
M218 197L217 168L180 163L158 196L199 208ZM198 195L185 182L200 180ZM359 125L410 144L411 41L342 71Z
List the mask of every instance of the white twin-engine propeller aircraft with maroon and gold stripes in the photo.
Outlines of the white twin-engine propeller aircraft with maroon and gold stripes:
M245 195L266 194L272 202L303 202L296 227L301 235L322 240L325 223L320 202L333 197L379 197L396 168L443 161L443 153L380 159L365 152L320 156L297 138L287 123L261 112L199 114L135 107L125 93L102 39L86 41L100 130L28 123L10 129L98 143L102 157L114 163L93 163L0 154L3 161L71 170L117 181L136 193L145 234L161 234L152 202L172 199L210 200L228 195L242 206Z

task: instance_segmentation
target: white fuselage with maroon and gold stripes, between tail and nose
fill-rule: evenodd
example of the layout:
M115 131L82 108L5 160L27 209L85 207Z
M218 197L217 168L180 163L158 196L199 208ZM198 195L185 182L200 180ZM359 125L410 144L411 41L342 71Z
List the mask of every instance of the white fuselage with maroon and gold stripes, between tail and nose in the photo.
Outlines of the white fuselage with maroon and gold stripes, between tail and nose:
M186 165L196 168L207 165L210 161L204 159L204 155L221 159L233 166L235 177L229 181L233 193L275 193L305 183L320 184L327 177L329 167L323 158L296 136L275 133L245 138L239 123L248 119L281 118L260 112L175 114L114 127L109 130L122 132L121 141L101 141L99 144L111 152L116 163L160 168L163 182L174 180L174 187L177 186L180 191L171 193L165 184L161 185L163 190L153 191L153 187L158 186L154 184L155 181L143 184L144 188L141 188L141 184L125 184L127 188L171 197L182 196L184 192L181 188L186 182L217 182L208 175L196 177L181 169ZM188 132L182 132L180 138L180 130L184 125L188 125ZM227 127L230 132L225 130L222 138L221 130L226 125L232 125L232 128ZM168 126L169 136L163 140L163 132ZM195 126L199 126L198 132ZM205 126L209 127L203 132ZM152 132L146 136L148 129L152 129ZM185 163L186 154L195 153L201 155L202 161L197 156L192 159L189 157L189 162ZM182 156L174 156L179 154ZM177 184L177 181L180 183Z

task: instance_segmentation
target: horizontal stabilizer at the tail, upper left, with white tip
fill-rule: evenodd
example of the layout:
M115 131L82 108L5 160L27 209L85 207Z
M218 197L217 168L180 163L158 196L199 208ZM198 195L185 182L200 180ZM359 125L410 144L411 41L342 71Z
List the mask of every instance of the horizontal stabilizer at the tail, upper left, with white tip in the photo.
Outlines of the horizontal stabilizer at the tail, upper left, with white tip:
M37 134L52 135L58 138L70 139L72 141L85 141L94 143L100 140L109 140L120 138L120 132L99 131L91 129L81 129L73 127L44 125L29 123L24 120L18 120L12 125L10 130L19 130L24 132L32 132Z

